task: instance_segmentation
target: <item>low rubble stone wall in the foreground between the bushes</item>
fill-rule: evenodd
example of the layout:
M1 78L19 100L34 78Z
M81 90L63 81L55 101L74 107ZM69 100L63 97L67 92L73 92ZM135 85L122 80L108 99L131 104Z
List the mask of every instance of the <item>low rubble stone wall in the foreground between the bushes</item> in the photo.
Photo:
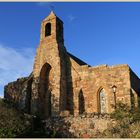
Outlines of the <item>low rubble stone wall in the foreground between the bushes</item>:
M46 133L50 130L63 138L94 138L113 122L109 115L88 114L78 117L56 117L45 120Z

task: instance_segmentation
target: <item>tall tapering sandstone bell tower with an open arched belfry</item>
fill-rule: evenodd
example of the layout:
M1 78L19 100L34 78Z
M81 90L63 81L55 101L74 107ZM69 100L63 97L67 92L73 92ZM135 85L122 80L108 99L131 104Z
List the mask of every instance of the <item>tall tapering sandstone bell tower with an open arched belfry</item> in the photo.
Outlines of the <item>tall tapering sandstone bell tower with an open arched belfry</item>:
M33 68L32 114L47 118L66 108L66 49L63 22L53 11L41 24Z

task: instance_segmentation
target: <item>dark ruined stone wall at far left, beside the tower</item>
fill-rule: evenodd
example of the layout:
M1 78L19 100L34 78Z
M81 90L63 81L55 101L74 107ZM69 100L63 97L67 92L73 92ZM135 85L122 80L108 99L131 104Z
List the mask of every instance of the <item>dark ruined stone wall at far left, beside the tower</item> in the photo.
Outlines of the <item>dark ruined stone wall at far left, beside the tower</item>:
M32 75L8 83L4 87L4 98L16 104L16 107L30 113Z

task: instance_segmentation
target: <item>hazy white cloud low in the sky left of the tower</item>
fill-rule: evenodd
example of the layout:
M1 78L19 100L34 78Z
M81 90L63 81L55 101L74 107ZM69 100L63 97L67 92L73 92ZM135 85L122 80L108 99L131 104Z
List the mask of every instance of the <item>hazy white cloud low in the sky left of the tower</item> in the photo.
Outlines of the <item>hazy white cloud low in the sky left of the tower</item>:
M3 87L17 78L32 72L35 49L14 49L0 45L0 96Z

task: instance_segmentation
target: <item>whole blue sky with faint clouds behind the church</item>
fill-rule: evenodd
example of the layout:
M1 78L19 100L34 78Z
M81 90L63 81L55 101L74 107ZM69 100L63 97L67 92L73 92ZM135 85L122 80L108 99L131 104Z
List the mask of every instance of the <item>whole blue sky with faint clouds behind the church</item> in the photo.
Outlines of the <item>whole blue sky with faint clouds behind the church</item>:
M92 66L128 64L140 76L140 3L0 2L0 96L5 84L32 71L52 6L69 52Z

